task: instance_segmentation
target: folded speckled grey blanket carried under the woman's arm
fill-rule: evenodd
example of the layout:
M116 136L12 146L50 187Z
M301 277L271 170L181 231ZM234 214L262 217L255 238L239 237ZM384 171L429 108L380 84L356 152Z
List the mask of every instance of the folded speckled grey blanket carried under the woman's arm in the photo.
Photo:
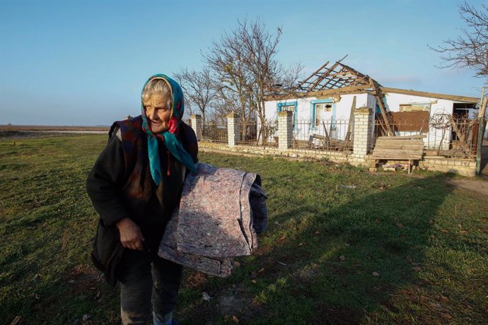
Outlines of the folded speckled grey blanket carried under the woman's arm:
M158 255L214 276L229 276L233 256L250 255L267 228L259 175L199 163L183 184Z

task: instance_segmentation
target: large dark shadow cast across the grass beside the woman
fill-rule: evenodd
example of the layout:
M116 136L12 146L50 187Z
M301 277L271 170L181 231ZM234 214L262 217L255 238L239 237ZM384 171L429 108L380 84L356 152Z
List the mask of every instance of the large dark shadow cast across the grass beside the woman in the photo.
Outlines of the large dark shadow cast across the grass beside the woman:
M335 208L287 198L294 208L271 211L260 248L231 278L190 285L193 296L186 298L200 302L181 311L183 324L226 323L232 316L245 324L358 324L380 310L401 318L389 298L409 284L423 285L416 270L449 191L443 177L432 176L371 188ZM198 300L199 290L216 301Z

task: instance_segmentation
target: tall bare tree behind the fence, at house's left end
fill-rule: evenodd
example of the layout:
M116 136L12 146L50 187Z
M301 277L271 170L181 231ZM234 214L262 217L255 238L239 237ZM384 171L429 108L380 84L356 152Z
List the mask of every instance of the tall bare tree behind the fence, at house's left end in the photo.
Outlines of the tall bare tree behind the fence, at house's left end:
M277 61L280 37L281 28L276 33L269 32L260 19L250 23L238 20L236 29L224 32L204 54L214 76L217 96L240 113L243 139L252 119L259 118L265 125L267 91L276 84L294 83L301 71L300 66L284 69ZM260 136L266 138L265 134Z

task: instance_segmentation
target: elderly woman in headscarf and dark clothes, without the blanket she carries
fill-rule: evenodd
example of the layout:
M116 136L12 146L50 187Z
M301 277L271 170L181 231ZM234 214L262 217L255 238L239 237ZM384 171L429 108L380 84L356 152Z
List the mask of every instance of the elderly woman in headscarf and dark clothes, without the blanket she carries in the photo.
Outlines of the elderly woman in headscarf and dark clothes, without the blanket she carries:
M141 115L115 122L86 182L100 215L92 259L120 282L123 324L176 324L182 266L158 257L158 244L197 162L197 138L181 121L180 85L157 74L142 91Z

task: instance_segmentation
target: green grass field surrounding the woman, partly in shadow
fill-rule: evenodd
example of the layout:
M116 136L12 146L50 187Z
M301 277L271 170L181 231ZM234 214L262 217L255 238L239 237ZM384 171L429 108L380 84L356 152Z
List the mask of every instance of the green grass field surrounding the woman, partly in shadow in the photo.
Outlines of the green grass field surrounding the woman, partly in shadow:
M1 324L120 323L118 291L88 255L98 217L85 180L105 142L0 139ZM486 196L436 173L199 158L260 174L269 228L230 278L186 271L182 324L488 323Z

